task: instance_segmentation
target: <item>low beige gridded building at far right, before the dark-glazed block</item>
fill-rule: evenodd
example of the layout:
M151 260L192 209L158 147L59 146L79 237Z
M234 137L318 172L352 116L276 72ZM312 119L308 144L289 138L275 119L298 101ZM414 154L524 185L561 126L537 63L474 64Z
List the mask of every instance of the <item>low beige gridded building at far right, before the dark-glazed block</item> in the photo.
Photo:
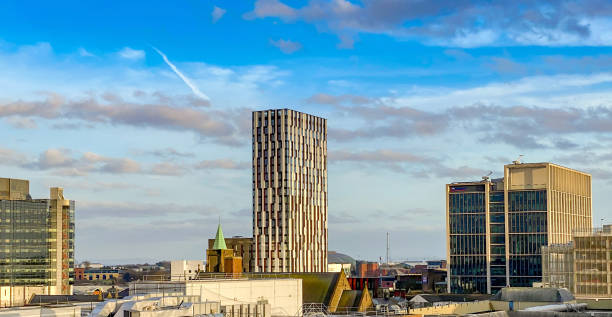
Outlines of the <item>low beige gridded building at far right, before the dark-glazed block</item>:
M579 298L612 295L612 225L574 231L568 244L542 248L542 284Z

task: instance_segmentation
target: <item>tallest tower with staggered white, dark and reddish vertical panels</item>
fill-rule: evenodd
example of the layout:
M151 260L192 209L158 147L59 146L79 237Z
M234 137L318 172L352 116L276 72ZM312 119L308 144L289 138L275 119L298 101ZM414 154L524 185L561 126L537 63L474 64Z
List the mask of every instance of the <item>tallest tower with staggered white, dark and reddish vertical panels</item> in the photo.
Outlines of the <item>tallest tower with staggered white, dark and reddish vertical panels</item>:
M327 120L253 112L255 272L327 270Z

